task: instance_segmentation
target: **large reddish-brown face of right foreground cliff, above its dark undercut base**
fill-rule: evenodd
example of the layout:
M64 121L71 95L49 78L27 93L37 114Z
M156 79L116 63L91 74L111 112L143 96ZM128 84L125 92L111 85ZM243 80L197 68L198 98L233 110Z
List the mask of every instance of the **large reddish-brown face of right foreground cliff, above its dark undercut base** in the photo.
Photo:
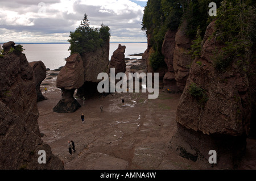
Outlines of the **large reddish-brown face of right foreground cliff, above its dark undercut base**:
M211 23L204 37L202 55L191 66L177 109L177 122L205 134L241 136L249 131L249 80L246 72L239 70L236 65L224 73L214 69L213 50L220 49L220 46L214 45L214 39L208 39L213 34L213 28L214 23ZM192 83L204 89L208 96L203 108L189 94Z

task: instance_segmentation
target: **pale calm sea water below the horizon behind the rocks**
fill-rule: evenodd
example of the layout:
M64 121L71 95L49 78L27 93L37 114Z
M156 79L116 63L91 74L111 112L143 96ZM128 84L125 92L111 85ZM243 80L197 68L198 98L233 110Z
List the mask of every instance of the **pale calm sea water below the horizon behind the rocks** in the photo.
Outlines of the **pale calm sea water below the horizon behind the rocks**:
M147 43L110 43L109 60L118 45L125 45L126 58L142 58L141 56L129 56L129 54L144 53ZM69 44L22 44L28 62L42 61L46 68L54 70L65 65L65 58L70 56Z

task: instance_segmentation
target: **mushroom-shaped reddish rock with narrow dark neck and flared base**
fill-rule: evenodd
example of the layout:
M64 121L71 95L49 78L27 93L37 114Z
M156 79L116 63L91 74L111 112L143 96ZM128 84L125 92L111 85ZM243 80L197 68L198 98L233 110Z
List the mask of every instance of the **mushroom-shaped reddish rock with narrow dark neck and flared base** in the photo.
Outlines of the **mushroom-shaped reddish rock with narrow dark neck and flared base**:
M54 112L69 113L78 110L81 105L74 98L74 92L84 84L84 64L79 53L73 53L66 59L64 68L57 76L56 87L63 95L59 103L53 108Z

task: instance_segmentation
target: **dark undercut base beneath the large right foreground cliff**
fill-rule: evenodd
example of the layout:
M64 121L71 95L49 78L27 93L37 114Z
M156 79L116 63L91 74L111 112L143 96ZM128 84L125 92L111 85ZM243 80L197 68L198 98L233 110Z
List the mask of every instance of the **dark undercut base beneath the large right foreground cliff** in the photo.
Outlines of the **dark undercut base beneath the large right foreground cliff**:
M245 154L246 137L207 135L177 123L177 132L171 138L169 148L181 157L209 165L209 168L237 169ZM216 151L217 163L209 163L209 158L213 158L210 150Z

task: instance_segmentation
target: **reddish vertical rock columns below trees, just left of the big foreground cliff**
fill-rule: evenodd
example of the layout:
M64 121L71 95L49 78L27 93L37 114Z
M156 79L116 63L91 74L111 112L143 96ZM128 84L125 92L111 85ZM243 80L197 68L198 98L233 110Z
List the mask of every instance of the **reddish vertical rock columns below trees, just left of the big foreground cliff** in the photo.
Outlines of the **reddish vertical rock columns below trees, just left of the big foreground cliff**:
M184 21L177 31L167 31L162 46L162 54L168 67L164 85L174 92L184 90L192 62L188 54L192 41L185 35L186 27L187 22Z

